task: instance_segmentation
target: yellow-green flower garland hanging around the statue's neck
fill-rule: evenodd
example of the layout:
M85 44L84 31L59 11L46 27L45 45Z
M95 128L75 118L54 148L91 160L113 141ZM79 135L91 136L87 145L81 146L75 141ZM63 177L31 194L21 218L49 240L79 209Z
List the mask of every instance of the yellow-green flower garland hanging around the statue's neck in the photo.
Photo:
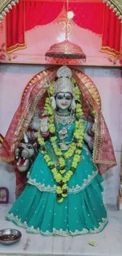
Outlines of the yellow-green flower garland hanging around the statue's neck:
M54 94L54 83L49 88L50 95ZM50 159L49 154L46 151L46 143L43 136L38 132L38 142L41 146L41 153L44 155L46 164L53 173L54 180L57 183L57 202L63 202L64 198L68 196L67 183L71 176L75 173L76 167L81 159L81 150L83 147L83 136L84 136L84 121L80 118L83 116L83 111L80 104L80 92L79 88L75 87L76 96L76 128L73 133L73 142L69 145L68 150L63 152L57 145L57 136L55 135L54 126L54 112L50 104L50 98L46 98L43 115L48 114L49 117L49 132L50 142L54 149L54 153L57 156L58 164ZM75 152L75 154L74 154ZM74 154L74 155L73 155ZM72 165L68 172L65 170L65 159L72 157Z

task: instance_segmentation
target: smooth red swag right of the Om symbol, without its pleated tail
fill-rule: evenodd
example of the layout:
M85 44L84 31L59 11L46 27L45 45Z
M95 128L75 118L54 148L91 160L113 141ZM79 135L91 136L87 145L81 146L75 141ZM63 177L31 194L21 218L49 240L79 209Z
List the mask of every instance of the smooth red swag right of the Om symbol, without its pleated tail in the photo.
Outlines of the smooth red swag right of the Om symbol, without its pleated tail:
M70 2L68 10L75 14L72 20L79 27L90 29L97 34L102 34L102 2Z

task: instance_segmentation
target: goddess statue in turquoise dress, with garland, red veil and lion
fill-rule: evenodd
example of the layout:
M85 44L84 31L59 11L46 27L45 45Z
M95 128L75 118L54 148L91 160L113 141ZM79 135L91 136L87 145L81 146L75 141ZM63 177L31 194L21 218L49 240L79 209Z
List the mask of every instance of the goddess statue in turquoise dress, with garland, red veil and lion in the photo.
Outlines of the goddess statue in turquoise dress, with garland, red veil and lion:
M26 107L17 110L20 123L8 158L26 177L26 186L6 219L45 236L101 232L108 223L101 173L116 165L108 129L94 98L81 90L71 69L62 66L57 80L50 80L31 88L28 105L26 99ZM46 95L42 111L41 90ZM6 161L3 150L1 159Z

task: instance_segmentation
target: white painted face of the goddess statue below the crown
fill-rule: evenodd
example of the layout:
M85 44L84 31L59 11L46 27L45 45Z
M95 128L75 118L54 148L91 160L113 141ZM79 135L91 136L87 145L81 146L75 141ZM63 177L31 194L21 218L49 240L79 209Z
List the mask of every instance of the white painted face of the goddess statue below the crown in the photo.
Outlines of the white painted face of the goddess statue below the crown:
M59 109L65 110L71 106L72 95L69 92L58 92L56 95L56 104Z

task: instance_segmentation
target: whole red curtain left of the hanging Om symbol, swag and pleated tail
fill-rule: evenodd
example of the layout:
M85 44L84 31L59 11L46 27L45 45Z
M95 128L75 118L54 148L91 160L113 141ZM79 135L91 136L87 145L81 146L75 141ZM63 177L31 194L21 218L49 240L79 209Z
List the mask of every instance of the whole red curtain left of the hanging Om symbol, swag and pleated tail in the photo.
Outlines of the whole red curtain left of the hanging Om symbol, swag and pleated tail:
M25 48L24 32L36 25L49 24L55 20L63 2L20 1L9 10L6 17L6 50L11 53Z

